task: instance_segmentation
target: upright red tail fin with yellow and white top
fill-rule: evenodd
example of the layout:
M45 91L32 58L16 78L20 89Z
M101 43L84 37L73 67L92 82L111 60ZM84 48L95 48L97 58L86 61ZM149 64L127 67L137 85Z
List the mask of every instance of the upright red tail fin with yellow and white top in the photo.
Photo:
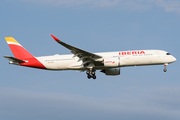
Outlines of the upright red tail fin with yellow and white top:
M5 37L11 51L13 52L15 58L17 59L27 59L33 58L31 53L29 53L23 46L21 46L13 37Z

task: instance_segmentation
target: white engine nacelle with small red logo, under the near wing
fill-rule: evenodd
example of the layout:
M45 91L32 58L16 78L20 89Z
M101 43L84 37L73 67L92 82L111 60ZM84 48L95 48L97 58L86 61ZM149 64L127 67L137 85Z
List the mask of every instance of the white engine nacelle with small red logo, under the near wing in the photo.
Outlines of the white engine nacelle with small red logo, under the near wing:
M104 58L104 66L120 67L120 58L119 57Z

